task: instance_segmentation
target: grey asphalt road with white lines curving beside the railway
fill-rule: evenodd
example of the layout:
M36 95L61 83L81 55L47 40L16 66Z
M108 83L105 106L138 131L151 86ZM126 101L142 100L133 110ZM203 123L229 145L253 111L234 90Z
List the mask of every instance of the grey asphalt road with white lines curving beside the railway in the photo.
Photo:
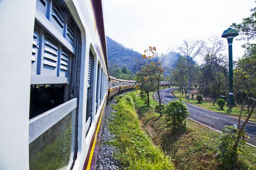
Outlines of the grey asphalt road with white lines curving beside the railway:
M167 104L168 102L173 101L175 98L172 97L170 91L175 88L166 88L160 91L161 102L163 104ZM155 94L156 99L158 100L157 93ZM221 113L216 113L213 111L208 111L203 108L198 108L194 105L187 104L189 109L190 119L200 122L204 125L212 127L215 130L222 131L224 126L232 126L233 124L238 125L238 119L234 117L230 117ZM244 123L244 120L241 120L240 125ZM250 139L247 140L249 144L253 144L256 146L256 123L248 122L244 127L245 132L248 133Z

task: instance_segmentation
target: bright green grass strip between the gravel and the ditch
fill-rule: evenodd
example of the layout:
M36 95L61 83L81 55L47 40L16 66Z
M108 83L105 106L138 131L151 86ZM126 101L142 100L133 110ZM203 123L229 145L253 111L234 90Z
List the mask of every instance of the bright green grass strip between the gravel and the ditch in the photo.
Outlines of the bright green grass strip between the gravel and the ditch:
M139 91L117 96L117 104L112 106L117 112L112 113L109 125L116 139L108 144L118 148L115 158L124 169L128 170L173 170L174 164L160 147L153 144L142 130L135 111L134 99Z

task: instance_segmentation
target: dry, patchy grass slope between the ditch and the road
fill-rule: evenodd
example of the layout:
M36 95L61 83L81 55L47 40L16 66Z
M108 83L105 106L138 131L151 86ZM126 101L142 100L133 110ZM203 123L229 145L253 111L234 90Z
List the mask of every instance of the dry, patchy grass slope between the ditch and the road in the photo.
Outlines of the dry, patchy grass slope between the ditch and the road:
M221 170L215 157L221 134L191 120L187 120L186 132L173 133L166 127L165 115L159 117L159 113L155 113L157 104L151 99L151 105L147 106L138 96L135 108L154 143L174 159L175 169ZM256 148L246 145L244 154L239 154L239 163L240 169L256 169Z

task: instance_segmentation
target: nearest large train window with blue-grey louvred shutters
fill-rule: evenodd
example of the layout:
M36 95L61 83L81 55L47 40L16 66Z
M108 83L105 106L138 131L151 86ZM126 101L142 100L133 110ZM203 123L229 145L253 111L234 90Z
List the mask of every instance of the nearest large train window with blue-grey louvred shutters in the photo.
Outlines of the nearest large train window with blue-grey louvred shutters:
M76 159L79 40L81 33L64 0L37 0L29 110L31 170L72 169Z

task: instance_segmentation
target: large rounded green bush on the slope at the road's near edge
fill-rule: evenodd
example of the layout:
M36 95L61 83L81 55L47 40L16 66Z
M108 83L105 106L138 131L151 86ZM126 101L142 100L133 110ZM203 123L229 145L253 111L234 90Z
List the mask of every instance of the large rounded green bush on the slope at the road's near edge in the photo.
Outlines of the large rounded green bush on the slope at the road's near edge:
M167 126L173 129L186 129L186 118L190 115L188 107L180 100L169 102L164 109Z

